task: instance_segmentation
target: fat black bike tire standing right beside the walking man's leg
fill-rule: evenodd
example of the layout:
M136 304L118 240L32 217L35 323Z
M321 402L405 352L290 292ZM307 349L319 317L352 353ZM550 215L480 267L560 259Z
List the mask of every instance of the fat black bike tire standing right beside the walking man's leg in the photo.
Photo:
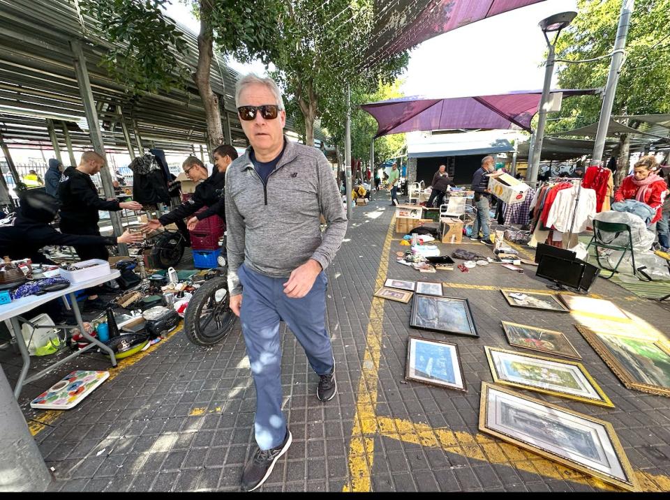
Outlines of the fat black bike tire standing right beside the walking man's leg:
M216 300L216 292L225 295ZM184 331L193 344L211 346L221 342L237 320L230 310L228 281L225 276L204 282L195 291L184 315Z

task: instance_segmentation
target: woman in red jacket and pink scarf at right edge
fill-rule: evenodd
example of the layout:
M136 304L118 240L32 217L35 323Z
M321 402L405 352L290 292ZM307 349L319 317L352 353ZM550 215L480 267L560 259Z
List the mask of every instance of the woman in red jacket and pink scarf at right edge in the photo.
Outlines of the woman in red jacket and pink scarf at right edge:
M654 156L643 156L634 165L633 174L623 179L623 183L614 194L615 202L636 199L654 209L656 215L649 222L649 229L652 230L655 229L655 223L661 218L665 192L668 189L665 181L656 174L658 169L658 162Z

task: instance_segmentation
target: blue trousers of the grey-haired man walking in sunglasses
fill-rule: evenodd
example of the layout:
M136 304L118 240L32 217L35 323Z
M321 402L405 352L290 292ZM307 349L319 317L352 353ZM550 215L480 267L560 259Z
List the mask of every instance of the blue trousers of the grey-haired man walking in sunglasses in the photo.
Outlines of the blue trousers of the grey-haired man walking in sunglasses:
M279 321L284 321L300 342L313 370L320 375L332 372L333 348L326 331L326 287L323 271L303 298L289 298L283 284L288 278L269 278L241 265L240 319L256 388L254 431L261 450L276 448L286 434L286 418L281 411L281 342Z

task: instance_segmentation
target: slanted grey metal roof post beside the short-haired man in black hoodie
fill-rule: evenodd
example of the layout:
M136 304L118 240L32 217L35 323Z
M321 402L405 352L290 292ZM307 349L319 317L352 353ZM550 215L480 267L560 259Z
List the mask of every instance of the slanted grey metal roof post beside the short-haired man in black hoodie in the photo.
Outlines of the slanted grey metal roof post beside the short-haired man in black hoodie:
M96 113L96 103L93 98L93 91L91 91L91 82L89 81L89 72L86 67L86 57L82 50L80 40L70 40L70 47L75 56L75 73L77 74L77 84L82 95L82 103L84 105L84 112L86 114L86 121L89 125L89 135L91 136L91 143L93 149L100 156L105 158L105 165L100 171L100 178L103 181L103 192L105 197L114 198L114 186L112 185L112 175L107 166L107 158L105 156L105 143L103 142L103 135L100 132L100 123L98 122L98 114ZM110 212L110 222L114 234L121 236L124 232L124 227L121 224L121 214L119 212ZM118 243L119 255L128 255L128 245L125 243Z

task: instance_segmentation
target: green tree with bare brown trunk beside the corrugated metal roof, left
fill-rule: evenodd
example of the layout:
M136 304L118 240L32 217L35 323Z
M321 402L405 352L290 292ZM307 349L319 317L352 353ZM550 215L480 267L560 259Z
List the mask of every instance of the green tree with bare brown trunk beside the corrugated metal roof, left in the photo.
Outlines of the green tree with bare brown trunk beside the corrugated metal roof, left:
M193 82L204 106L209 151L223 144L218 96L209 82L216 49L239 61L260 57L269 61L271 40L278 36L276 20L281 0L235 2L181 0L200 20L198 65L195 72L184 61L188 45L163 11L168 0L80 0L84 13L99 21L102 35L114 45L101 64L131 93L186 89Z

